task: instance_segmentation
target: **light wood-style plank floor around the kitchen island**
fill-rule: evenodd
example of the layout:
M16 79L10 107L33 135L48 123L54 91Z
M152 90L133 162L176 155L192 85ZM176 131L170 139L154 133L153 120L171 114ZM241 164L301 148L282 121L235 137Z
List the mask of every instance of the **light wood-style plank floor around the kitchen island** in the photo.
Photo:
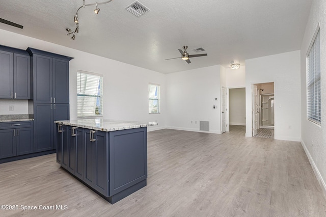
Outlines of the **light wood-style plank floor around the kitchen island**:
M148 133L147 186L112 205L62 170L55 154L0 165L0 216L326 216L326 200L300 143L211 134Z

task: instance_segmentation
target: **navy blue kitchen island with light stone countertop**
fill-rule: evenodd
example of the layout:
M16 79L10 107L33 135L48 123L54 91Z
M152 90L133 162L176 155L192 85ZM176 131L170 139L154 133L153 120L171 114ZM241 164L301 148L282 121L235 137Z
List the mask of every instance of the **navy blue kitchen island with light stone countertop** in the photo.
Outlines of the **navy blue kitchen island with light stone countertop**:
M146 186L147 127L154 122L55 121L57 162L111 204Z

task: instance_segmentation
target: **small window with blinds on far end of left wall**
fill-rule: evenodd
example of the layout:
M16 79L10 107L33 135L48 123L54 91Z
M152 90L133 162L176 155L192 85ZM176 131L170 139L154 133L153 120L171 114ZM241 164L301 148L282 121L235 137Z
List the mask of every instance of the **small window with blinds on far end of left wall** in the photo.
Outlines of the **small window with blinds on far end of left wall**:
M160 86L148 84L148 113L160 113Z

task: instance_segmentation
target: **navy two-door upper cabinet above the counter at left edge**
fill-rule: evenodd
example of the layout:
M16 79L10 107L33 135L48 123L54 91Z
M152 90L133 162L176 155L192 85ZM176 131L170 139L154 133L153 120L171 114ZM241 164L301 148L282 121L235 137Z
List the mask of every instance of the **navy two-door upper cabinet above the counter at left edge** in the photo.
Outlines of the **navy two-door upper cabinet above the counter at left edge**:
M29 53L0 45L0 98L31 99Z

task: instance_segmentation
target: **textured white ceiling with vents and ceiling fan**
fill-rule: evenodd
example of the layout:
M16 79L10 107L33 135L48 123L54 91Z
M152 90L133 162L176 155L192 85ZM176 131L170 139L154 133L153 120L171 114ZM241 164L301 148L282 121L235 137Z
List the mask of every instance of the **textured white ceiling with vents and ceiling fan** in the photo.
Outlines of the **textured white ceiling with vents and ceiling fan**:
M171 73L298 50L301 47L312 0L139 0L151 11L136 17L125 8L134 0L115 0L95 14L95 7L79 10L75 40L73 16L82 0L0 0L0 18L21 24L18 29L0 23L0 29L38 38L102 57ZM103 1L102 1L103 2ZM86 0L86 4L95 1ZM203 47L207 57L179 57L178 49Z

